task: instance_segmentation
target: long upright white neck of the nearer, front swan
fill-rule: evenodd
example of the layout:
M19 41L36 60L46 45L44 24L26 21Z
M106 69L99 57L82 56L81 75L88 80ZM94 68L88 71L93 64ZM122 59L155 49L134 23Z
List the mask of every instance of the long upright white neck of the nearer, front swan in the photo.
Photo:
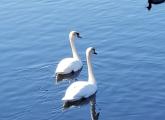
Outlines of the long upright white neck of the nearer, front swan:
M96 80L93 74L92 64L91 64L91 55L90 52L86 54L87 57L87 66L88 66L88 82L96 84Z

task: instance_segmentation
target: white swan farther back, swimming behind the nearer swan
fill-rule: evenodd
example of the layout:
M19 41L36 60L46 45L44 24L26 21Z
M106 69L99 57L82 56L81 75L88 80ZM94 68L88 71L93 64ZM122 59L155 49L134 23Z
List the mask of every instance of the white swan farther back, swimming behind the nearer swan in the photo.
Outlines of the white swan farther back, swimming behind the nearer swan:
M76 31L71 31L69 33L69 40L70 40L70 46L72 49L73 57L64 58L59 62L55 71L57 79L61 75L67 75L70 73L80 71L82 69L83 64L74 45L75 37L81 38L80 33Z

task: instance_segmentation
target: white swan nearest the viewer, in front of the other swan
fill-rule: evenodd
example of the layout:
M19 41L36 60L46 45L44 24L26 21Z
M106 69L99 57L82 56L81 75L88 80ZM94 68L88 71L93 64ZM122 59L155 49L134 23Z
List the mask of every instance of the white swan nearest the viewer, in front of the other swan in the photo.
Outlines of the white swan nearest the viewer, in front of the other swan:
M72 83L66 90L63 101L77 101L82 98L88 98L97 91L97 84L92 70L91 54L97 54L95 48L89 47L86 50L86 59L88 66L88 81L77 81Z

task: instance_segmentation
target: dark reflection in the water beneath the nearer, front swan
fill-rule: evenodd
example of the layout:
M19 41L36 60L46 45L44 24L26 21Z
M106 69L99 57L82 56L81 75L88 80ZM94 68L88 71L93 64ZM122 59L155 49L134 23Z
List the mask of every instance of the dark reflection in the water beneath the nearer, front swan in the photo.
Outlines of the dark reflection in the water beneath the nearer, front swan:
M100 112L96 112L96 94L78 101L65 102L63 108L67 109L72 106L82 106L82 105L87 105L89 103L90 103L91 120L98 120Z

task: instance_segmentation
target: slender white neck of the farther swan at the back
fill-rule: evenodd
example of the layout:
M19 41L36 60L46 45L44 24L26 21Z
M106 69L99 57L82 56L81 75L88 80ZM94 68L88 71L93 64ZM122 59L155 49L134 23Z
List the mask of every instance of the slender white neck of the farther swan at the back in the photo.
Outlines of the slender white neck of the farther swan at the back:
M78 56L76 47L74 45L74 36L70 35L69 39L70 39L70 46L71 46L71 49L72 49L73 58L76 58L76 59L80 60L80 57Z

